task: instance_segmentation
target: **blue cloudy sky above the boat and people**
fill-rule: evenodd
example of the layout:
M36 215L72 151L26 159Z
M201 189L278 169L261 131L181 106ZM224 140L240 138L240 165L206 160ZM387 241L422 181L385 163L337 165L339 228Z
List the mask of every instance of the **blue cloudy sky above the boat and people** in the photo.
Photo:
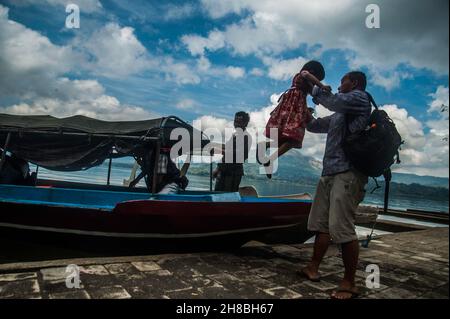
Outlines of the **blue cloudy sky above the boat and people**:
M80 10L80 27L68 28ZM368 4L379 28L368 28ZM395 121L398 172L448 177L447 0L0 0L0 113L103 120L177 115L264 128L308 60L337 91L350 70ZM309 100L310 106L314 106ZM318 116L330 114L316 107ZM307 134L320 160L325 136Z

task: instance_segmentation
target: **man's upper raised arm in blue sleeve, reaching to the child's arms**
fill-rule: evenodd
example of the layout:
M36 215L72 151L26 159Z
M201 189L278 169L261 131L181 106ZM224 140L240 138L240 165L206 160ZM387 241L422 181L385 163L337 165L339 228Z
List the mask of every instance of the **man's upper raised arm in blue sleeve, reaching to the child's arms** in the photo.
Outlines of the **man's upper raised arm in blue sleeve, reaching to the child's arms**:
M315 86L312 91L312 96L314 103L321 104L330 111L337 113L364 115L367 113L367 108L361 106L370 106L367 94L359 90L354 90L349 93L333 94Z

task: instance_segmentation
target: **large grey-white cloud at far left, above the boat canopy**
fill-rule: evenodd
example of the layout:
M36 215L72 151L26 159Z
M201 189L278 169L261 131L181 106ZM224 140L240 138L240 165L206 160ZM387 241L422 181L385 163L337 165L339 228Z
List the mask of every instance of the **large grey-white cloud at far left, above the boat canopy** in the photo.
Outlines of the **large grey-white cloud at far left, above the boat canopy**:
M142 119L151 112L123 105L97 80L69 79L83 61L70 46L58 46L8 19L0 5L0 112L11 114L87 115L102 119ZM15 102L5 102L15 101Z

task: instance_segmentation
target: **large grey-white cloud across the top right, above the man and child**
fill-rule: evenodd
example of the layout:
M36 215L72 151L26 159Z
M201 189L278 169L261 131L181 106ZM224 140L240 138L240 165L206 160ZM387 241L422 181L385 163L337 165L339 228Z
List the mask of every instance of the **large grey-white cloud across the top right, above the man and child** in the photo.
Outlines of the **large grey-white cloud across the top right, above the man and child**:
M329 49L351 52L348 55L351 64L384 73L395 70L400 64L408 64L448 74L446 0L433 3L408 0L201 2L214 19L235 14L240 20L221 30L215 29L207 36L187 36L195 40L188 44L192 54L226 48L232 54L273 56L307 44L320 47L321 52ZM365 26L368 15L365 8L370 3L380 7L380 29ZM384 87L395 87L404 76L401 73L383 75L383 72L373 72L373 75L375 82ZM392 75L393 79L389 80Z

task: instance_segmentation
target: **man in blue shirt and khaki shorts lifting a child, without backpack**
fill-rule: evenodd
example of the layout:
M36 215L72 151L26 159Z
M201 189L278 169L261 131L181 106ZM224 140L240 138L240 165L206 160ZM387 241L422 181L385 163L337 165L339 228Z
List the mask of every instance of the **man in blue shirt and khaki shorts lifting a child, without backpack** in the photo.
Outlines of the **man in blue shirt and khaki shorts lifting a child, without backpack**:
M368 177L354 169L347 160L342 143L347 130L354 133L365 129L371 113L371 96L365 92L366 76L362 72L347 73L341 79L339 93L315 86L313 101L334 114L312 119L307 130L326 133L322 177L317 186L308 220L308 230L316 233L311 262L300 271L312 281L318 281L319 266L332 240L342 247L345 275L332 298L349 299L357 296L355 273L358 265L359 243L355 231L356 209L365 196Z

